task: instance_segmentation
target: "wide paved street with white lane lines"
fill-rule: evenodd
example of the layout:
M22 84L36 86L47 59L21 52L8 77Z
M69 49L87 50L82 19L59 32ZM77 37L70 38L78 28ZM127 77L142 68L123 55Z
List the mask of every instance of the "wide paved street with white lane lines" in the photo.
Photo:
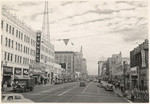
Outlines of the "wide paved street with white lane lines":
M95 82L86 82L85 87L80 87L79 82L44 85L43 87L37 85L34 91L22 94L34 102L129 103L113 91L106 91L104 88L97 87Z

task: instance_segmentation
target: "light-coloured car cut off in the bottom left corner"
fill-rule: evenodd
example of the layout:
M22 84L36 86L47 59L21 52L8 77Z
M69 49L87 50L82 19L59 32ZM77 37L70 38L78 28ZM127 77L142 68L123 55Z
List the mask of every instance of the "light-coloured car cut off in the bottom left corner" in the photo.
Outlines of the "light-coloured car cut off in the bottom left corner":
M2 102L31 102L33 103L32 100L25 98L21 94L2 94Z

